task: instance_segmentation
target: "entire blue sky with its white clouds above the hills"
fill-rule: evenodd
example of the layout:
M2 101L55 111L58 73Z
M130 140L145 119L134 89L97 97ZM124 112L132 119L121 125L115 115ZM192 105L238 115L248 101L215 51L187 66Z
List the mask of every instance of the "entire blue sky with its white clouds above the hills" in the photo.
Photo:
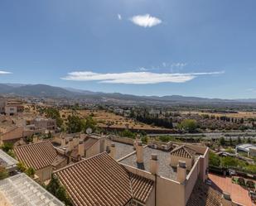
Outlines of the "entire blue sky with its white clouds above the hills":
M0 82L256 98L255 7L254 0L0 0Z

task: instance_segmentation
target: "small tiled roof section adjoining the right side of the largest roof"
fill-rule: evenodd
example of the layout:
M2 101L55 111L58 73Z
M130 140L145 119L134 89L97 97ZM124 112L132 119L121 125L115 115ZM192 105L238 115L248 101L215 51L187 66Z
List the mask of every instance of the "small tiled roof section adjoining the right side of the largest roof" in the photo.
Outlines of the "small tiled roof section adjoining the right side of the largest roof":
M133 189L133 199L141 203L146 203L148 196L152 192L154 181L139 175L134 175L133 173L130 173L130 180Z

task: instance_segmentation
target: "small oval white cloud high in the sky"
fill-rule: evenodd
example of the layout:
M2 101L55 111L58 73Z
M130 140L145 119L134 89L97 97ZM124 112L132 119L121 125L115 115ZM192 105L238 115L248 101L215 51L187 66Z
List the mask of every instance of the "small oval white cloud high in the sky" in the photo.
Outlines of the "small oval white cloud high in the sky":
M134 16L130 19L134 24L143 27L157 26L162 23L162 20L157 17L152 17L150 14Z

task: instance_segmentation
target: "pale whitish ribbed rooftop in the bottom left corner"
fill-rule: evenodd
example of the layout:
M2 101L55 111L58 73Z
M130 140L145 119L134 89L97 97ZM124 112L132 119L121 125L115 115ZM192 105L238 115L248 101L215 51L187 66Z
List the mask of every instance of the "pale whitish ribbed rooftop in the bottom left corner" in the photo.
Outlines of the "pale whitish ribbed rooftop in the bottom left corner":
M64 206L59 199L25 174L0 181L0 194L13 206ZM1 205L1 203L0 203ZM4 204L3 204L4 205Z

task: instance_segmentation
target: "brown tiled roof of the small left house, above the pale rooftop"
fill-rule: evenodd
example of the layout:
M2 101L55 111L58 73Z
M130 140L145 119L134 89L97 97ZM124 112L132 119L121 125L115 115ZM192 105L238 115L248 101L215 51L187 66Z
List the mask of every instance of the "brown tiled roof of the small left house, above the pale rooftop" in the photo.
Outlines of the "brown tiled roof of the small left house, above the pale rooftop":
M27 167L40 170L49 166L56 159L57 152L50 141L42 141L26 146L14 147L17 159L22 161Z

